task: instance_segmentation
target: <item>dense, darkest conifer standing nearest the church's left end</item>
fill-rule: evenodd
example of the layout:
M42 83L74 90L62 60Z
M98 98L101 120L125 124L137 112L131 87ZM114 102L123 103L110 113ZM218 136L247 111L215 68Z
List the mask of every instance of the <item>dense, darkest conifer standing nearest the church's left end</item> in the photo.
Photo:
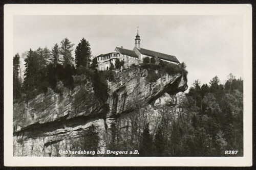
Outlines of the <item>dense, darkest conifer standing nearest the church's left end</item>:
M88 69L88 64L91 62L91 53L90 43L86 39L82 38L75 50L76 68L82 65L86 66Z

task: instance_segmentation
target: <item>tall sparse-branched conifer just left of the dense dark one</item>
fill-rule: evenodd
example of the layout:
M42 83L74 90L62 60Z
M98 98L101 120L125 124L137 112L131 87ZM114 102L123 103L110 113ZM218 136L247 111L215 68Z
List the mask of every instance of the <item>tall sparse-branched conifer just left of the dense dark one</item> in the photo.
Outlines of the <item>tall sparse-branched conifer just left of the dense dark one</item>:
M63 57L63 66L66 67L68 64L72 65L72 61L74 60L72 57L73 46L68 38L63 39L60 42L60 54Z

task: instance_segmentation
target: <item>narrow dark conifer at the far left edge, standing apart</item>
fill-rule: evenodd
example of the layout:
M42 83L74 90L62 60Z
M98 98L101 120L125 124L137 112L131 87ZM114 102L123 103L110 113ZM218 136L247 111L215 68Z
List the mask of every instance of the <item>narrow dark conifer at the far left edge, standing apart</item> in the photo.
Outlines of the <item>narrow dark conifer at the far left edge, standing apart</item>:
M21 96L21 81L20 81L20 78L19 78L19 64L20 64L20 61L19 61L20 57L18 54L16 54L14 57L13 57L13 75L12 75L12 83L13 83L13 98L18 98Z

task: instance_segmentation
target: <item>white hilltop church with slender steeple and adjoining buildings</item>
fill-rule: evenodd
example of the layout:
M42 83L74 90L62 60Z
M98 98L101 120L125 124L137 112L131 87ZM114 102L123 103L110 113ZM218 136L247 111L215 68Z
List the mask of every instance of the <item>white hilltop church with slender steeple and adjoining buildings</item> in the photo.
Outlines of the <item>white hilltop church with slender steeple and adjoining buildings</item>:
M179 60L175 56L147 50L140 47L139 30L135 37L135 46L133 50L128 50L121 47L116 47L114 52L108 54L101 54L97 56L98 70L110 69L111 63L115 66L116 60L124 61L124 67L130 67L132 64L138 65L143 63L143 58L155 57L156 60L162 60L168 63L179 64Z

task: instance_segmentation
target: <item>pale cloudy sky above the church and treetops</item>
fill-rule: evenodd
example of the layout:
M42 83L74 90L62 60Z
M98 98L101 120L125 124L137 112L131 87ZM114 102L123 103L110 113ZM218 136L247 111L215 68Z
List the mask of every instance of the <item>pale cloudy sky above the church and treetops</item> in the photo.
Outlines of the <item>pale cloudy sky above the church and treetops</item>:
M115 47L133 50L137 27L141 47L185 62L188 86L231 72L243 78L243 18L239 15L18 15L13 18L13 56L30 48L52 48L64 38L74 49L84 37L93 56ZM74 51L73 51L74 56Z

